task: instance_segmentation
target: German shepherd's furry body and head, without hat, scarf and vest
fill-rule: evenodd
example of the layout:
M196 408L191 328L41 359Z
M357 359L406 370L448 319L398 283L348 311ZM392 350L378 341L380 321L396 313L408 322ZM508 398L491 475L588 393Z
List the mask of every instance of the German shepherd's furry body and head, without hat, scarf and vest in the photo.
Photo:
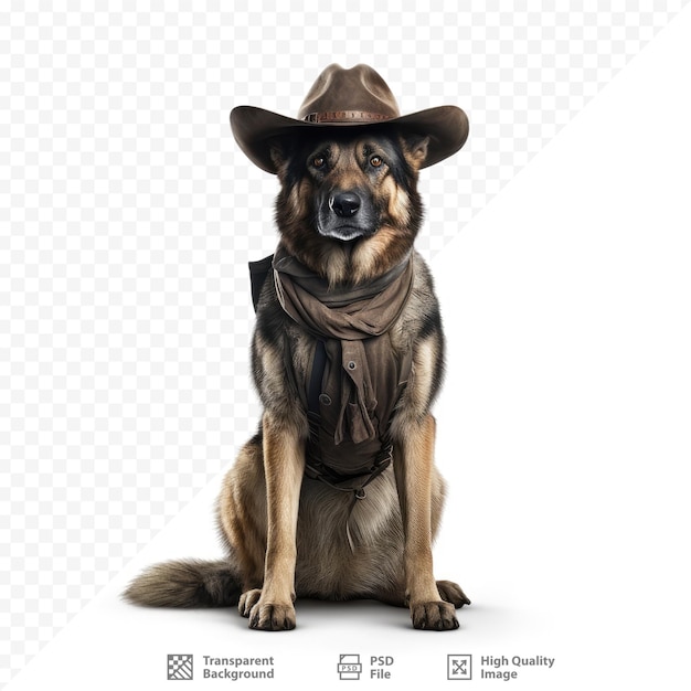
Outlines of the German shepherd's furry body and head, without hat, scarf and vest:
M299 382L310 380L318 339L286 312L269 275L252 344L262 422L217 502L227 556L151 566L126 591L132 603L238 605L249 628L264 630L293 629L301 597L407 606L413 626L429 630L457 628L455 608L470 603L456 583L433 575L445 483L434 465L429 411L444 339L432 277L413 248L428 140L383 126L337 129L327 139L310 131L272 147L279 248L337 294L366 287L410 258L412 288L386 341L395 358L410 359L405 385L386 392L394 398L391 463L369 477L366 493L339 491L342 481L307 472L310 423Z

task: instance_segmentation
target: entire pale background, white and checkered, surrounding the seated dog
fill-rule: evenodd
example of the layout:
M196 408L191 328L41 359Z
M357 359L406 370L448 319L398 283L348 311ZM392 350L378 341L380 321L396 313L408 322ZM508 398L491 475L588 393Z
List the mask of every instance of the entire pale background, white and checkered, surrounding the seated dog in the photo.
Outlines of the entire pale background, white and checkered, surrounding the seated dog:
M272 655L307 688L344 652L393 656L398 682L471 653L466 683L521 655L556 662L512 688L688 685L689 11L208 9L8 13L8 688L168 688L169 652ZM273 249L275 181L227 111L290 115L333 61L471 121L422 181L449 341L436 570L474 600L455 632L305 603L265 635L118 597L153 561L220 554L221 472L256 424L244 267Z

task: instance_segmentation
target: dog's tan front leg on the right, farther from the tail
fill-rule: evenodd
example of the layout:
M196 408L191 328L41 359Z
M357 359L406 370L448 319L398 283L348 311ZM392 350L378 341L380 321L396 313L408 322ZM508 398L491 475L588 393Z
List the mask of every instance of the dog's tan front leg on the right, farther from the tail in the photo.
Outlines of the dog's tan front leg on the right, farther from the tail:
M407 427L394 470L401 502L405 543L406 599L413 626L419 629L458 628L454 605L439 595L432 565L432 471L435 421L427 415Z

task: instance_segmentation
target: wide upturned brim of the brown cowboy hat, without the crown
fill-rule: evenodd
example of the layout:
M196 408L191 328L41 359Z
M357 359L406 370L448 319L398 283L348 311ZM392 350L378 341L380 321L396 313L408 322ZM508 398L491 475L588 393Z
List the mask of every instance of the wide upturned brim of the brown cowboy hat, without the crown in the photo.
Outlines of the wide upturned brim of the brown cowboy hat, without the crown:
M429 137L427 157L421 168L443 161L458 151L468 138L468 117L457 106L437 106L376 123L305 123L255 106L237 106L231 111L235 141L247 158L266 172L276 173L270 140L318 129L397 127Z

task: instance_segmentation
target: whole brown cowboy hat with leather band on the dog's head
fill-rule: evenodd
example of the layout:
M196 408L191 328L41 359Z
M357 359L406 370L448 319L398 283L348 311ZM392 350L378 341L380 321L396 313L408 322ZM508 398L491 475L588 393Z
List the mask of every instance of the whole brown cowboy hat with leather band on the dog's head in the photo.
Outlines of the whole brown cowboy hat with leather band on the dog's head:
M313 132L316 128L378 125L395 125L429 137L422 168L456 153L468 137L468 118L456 106L401 116L391 89L368 65L350 70L329 65L307 94L297 119L254 106L237 106L231 111L231 127L240 148L253 163L270 173L277 172L270 157L270 140L275 137Z

